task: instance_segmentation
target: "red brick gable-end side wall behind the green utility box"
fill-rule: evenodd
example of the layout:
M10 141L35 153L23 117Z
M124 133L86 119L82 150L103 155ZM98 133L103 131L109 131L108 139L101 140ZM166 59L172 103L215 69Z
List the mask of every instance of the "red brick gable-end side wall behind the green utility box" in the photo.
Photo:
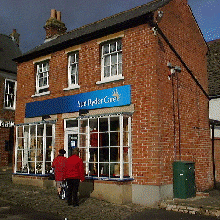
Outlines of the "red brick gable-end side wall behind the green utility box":
M159 27L174 46L182 60L208 92L206 70L207 47L202 35L186 4L187 1L172 1L162 8L164 20ZM208 99L192 80L187 70L174 53L167 46L162 37L158 39L157 63L158 72L158 112L161 157L161 173L163 182L171 180L171 162L175 159L193 161L196 166L196 185L198 190L210 188L213 184L211 165L211 143L208 120ZM181 145L179 149L179 125L177 106L177 79L174 79L175 88L175 119L176 119L176 148L174 147L174 123L172 103L172 83L167 80L169 70L167 62L182 68L179 73L179 111Z

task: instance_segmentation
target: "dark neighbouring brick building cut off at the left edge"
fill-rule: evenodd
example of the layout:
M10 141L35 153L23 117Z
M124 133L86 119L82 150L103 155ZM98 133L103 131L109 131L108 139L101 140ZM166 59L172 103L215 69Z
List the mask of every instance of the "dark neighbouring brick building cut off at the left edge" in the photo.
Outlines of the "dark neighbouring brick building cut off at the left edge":
M17 40L17 41L16 41ZM0 34L0 167L12 166L19 34Z

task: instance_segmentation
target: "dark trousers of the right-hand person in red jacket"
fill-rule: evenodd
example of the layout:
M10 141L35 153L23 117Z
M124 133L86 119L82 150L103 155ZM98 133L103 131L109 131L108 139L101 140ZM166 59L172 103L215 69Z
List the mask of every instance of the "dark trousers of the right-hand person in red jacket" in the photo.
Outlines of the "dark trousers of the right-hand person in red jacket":
M78 190L79 179L67 179L67 202L69 205L79 205Z

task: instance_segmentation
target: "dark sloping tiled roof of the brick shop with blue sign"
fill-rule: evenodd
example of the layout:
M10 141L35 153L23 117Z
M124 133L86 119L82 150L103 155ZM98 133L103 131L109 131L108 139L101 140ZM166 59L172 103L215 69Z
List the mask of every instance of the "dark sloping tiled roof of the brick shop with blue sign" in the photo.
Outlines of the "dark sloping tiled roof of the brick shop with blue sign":
M141 22L146 22L147 16L150 12L163 7L170 1L171 0L154 0L145 5L82 26L30 50L21 57L16 58L16 61L27 61L57 50L65 49L72 45L80 44L101 35L104 36L106 34L114 33L123 28L137 25L140 20Z

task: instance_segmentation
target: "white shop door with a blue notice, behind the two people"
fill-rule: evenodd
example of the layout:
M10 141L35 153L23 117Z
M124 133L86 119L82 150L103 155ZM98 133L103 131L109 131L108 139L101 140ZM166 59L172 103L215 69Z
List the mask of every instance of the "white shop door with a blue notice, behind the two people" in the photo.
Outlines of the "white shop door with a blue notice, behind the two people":
M78 147L78 134L74 131L67 131L65 134L66 157L72 156L73 149Z

